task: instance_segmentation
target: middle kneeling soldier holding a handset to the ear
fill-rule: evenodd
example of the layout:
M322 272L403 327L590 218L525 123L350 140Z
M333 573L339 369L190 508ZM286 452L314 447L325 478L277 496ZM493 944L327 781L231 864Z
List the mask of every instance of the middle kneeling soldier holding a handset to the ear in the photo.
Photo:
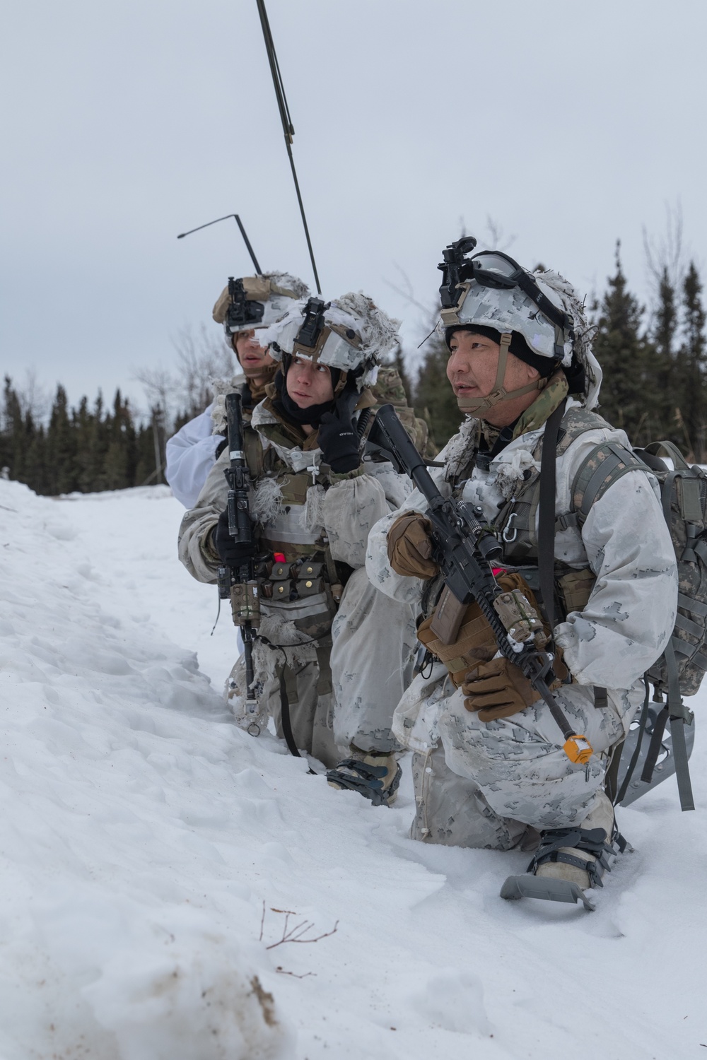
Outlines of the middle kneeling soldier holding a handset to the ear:
M224 452L184 515L179 558L212 583L222 563L254 561L260 727L271 714L287 736L288 716L290 742L332 767L330 782L389 802L400 777L390 724L411 676L414 621L409 604L371 586L364 564L370 528L400 507L409 483L390 464L369 473L361 448L375 405L367 385L396 330L352 294L296 303L257 335L280 370L246 431L254 546L229 536ZM252 731L243 660L229 685L236 721Z

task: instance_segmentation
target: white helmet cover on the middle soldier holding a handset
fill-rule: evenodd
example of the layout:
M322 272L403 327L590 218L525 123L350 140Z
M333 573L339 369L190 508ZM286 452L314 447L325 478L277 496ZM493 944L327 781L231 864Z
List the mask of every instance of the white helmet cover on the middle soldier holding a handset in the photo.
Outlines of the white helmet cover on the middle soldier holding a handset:
M270 354L276 360L281 360L283 353L297 354L330 368L363 374L372 371L400 340L399 320L392 320L360 292L350 292L321 303L323 326L314 347L303 344L300 331L315 301L302 299L259 334L261 346L272 346Z

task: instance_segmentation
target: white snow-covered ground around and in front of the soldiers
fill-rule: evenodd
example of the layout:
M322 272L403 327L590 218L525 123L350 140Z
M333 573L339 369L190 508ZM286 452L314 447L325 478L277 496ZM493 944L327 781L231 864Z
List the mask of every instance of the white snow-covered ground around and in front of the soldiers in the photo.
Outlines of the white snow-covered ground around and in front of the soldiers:
M180 516L0 481L1 1060L706 1057L705 693L697 811L620 812L596 913L505 902L527 855L412 843L409 778L376 809L229 723Z

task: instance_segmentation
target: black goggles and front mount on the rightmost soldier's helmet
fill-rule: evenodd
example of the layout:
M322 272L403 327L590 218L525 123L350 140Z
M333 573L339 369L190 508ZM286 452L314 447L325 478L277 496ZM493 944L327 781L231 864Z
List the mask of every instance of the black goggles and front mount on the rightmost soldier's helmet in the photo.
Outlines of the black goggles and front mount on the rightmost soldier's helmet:
M473 258L467 255L476 246L473 235L449 244L442 251L444 259L437 267L442 270L440 298L443 310L454 308L463 294L461 285L475 281L480 287L508 290L519 287L537 308L561 331L572 328L572 318L543 294L534 278L500 250L480 250Z

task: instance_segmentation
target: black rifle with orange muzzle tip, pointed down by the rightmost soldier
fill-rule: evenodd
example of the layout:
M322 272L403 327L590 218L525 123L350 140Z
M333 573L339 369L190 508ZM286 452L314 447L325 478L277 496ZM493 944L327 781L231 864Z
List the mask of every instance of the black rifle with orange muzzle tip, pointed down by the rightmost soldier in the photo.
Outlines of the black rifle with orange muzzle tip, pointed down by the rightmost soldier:
M517 666L545 703L560 726L563 749L570 761L584 764L594 754L586 737L572 729L549 685L555 679L552 656L536 640L542 628L534 610L515 589L503 593L492 564L501 554L501 545L483 517L482 509L449 497L444 499L425 461L418 453L392 405L383 405L369 432L373 453L390 460L399 473L412 479L425 497L425 513L432 525L432 558L439 564L448 590L443 606L456 613L459 628L466 604L476 601L496 639L500 654ZM375 455L374 455L375 459ZM454 625L454 619L453 619ZM456 636L456 631L455 631ZM454 636L448 642L454 640Z

